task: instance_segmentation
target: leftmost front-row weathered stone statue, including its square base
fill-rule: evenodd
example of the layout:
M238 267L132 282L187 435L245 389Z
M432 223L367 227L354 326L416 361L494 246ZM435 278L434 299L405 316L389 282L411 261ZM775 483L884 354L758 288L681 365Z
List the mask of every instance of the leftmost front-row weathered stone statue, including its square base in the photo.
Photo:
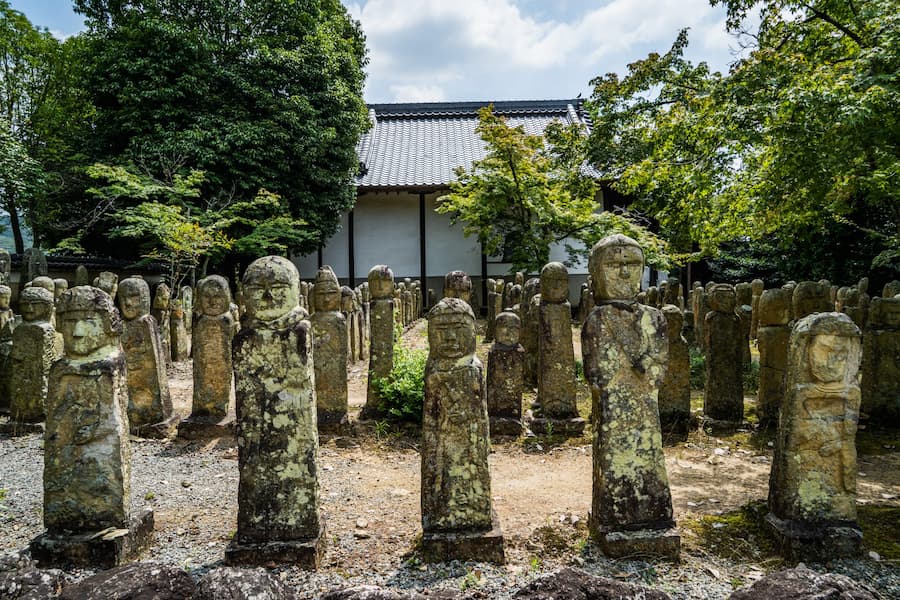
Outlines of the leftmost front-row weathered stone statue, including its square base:
M112 567L148 541L153 513L132 515L128 386L112 298L90 286L59 301L65 356L50 371L44 434L42 564Z

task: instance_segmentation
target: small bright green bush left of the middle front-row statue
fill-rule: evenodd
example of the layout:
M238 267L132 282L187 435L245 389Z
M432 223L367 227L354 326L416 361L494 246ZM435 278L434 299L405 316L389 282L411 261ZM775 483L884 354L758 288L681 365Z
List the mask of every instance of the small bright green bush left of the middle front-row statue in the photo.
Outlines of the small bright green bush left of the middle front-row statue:
M397 338L399 339L399 338ZM376 379L378 409L396 421L422 422L425 400L425 360L428 352L394 345L394 368L391 374Z

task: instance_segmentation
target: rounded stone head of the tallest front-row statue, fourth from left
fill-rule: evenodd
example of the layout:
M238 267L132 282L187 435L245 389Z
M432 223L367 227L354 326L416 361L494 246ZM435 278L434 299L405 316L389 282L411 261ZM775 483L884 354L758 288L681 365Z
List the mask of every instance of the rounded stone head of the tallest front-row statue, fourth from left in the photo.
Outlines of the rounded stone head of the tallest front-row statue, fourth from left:
M607 236L591 248L588 270L596 301L634 300L641 291L644 251L626 235Z

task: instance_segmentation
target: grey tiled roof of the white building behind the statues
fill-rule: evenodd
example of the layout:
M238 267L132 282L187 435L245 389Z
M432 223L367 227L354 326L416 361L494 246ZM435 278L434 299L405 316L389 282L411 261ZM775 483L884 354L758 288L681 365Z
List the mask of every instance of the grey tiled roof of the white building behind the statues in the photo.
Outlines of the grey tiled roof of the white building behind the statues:
M583 100L493 102L494 112L512 126L538 135L553 120L588 125ZM454 169L484 158L485 145L475 133L478 110L491 102L419 102L370 104L372 128L357 145L365 189L446 187Z

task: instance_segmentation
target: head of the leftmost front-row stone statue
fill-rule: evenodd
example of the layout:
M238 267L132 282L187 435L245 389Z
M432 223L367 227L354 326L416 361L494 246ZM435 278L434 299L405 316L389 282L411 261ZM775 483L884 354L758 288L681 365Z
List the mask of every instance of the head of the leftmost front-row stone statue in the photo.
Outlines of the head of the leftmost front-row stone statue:
M122 333L122 321L112 298L87 285L60 296L57 323L69 357L90 356L115 347Z

